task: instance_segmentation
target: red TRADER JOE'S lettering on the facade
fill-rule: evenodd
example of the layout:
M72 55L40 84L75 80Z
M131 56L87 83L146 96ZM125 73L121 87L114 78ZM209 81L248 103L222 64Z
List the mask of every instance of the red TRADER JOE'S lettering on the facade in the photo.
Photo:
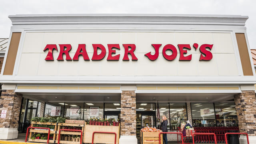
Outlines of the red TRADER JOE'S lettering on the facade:
M84 60L90 60L88 57L88 54L86 52L86 44L78 44L78 48L76 50L76 53L73 58L70 57L69 52L72 49L72 46L70 44L59 44L60 50L58 51L57 45L56 44L47 44L46 47L44 48L44 52L48 50L48 54L45 58L45 60L54 60L53 58L53 51L56 50L59 52L59 56L57 60L64 60L63 59L63 54L66 55L66 60L79 60L78 57L80 55L83 56ZM151 54L151 52L148 52L145 54L145 56L149 60L156 60L159 56L159 48L162 46L162 44L152 44L155 54ZM199 60L211 60L212 59L212 50L213 44L202 44L199 47L200 50L200 58ZM102 60L106 56L106 48L102 44L92 44L93 47L93 56L91 60ZM122 60L129 60L128 54L132 56L132 60L138 60L138 58L135 56L134 51L136 50L135 44L123 44L124 47L124 57ZM198 44L194 43L193 48L197 50ZM207 49L208 50L207 50ZM98 54L97 50L100 49L101 52ZM130 49L130 50L129 50ZM117 54L115 56L112 56L112 54L116 54L116 50L120 50L120 45L119 44L108 44L108 58L107 60L119 60L120 59L120 54ZM168 55L166 54L167 50L171 50L172 54ZM185 54L188 53L189 50L191 50L190 44L178 44L178 50L180 51L180 59L179 60L191 60L192 59L192 54L188 56L184 56ZM177 48L172 45L172 44L166 44L162 50L162 55L166 60L174 60L177 55L178 51Z

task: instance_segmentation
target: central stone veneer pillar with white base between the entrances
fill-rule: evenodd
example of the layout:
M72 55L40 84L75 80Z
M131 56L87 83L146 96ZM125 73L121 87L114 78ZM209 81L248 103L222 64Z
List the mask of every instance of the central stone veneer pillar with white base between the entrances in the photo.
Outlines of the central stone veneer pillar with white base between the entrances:
M122 91L120 122L119 144L137 144L136 94L134 90Z

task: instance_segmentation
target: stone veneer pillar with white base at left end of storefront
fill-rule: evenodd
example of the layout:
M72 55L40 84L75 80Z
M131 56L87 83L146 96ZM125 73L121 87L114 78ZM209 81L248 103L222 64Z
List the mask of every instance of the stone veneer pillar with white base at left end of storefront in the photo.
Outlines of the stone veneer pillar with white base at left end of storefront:
M0 111L7 110L7 113L6 118L0 118L0 139L10 140L18 138L21 103L22 94L14 92L14 90L2 90Z

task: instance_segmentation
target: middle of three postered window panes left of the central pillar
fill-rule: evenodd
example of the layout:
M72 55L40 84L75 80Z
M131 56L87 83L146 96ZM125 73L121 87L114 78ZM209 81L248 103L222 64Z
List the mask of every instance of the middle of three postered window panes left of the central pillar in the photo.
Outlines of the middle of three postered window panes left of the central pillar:
M70 120L82 120L84 116L84 102L66 102L64 117Z

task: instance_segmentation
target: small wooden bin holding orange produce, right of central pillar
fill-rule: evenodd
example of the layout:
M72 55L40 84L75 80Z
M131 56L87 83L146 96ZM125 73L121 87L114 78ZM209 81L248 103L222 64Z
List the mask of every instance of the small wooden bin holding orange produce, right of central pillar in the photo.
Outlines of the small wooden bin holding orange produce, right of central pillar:
M140 144L159 144L159 132L140 132ZM163 134L161 134L163 144Z

